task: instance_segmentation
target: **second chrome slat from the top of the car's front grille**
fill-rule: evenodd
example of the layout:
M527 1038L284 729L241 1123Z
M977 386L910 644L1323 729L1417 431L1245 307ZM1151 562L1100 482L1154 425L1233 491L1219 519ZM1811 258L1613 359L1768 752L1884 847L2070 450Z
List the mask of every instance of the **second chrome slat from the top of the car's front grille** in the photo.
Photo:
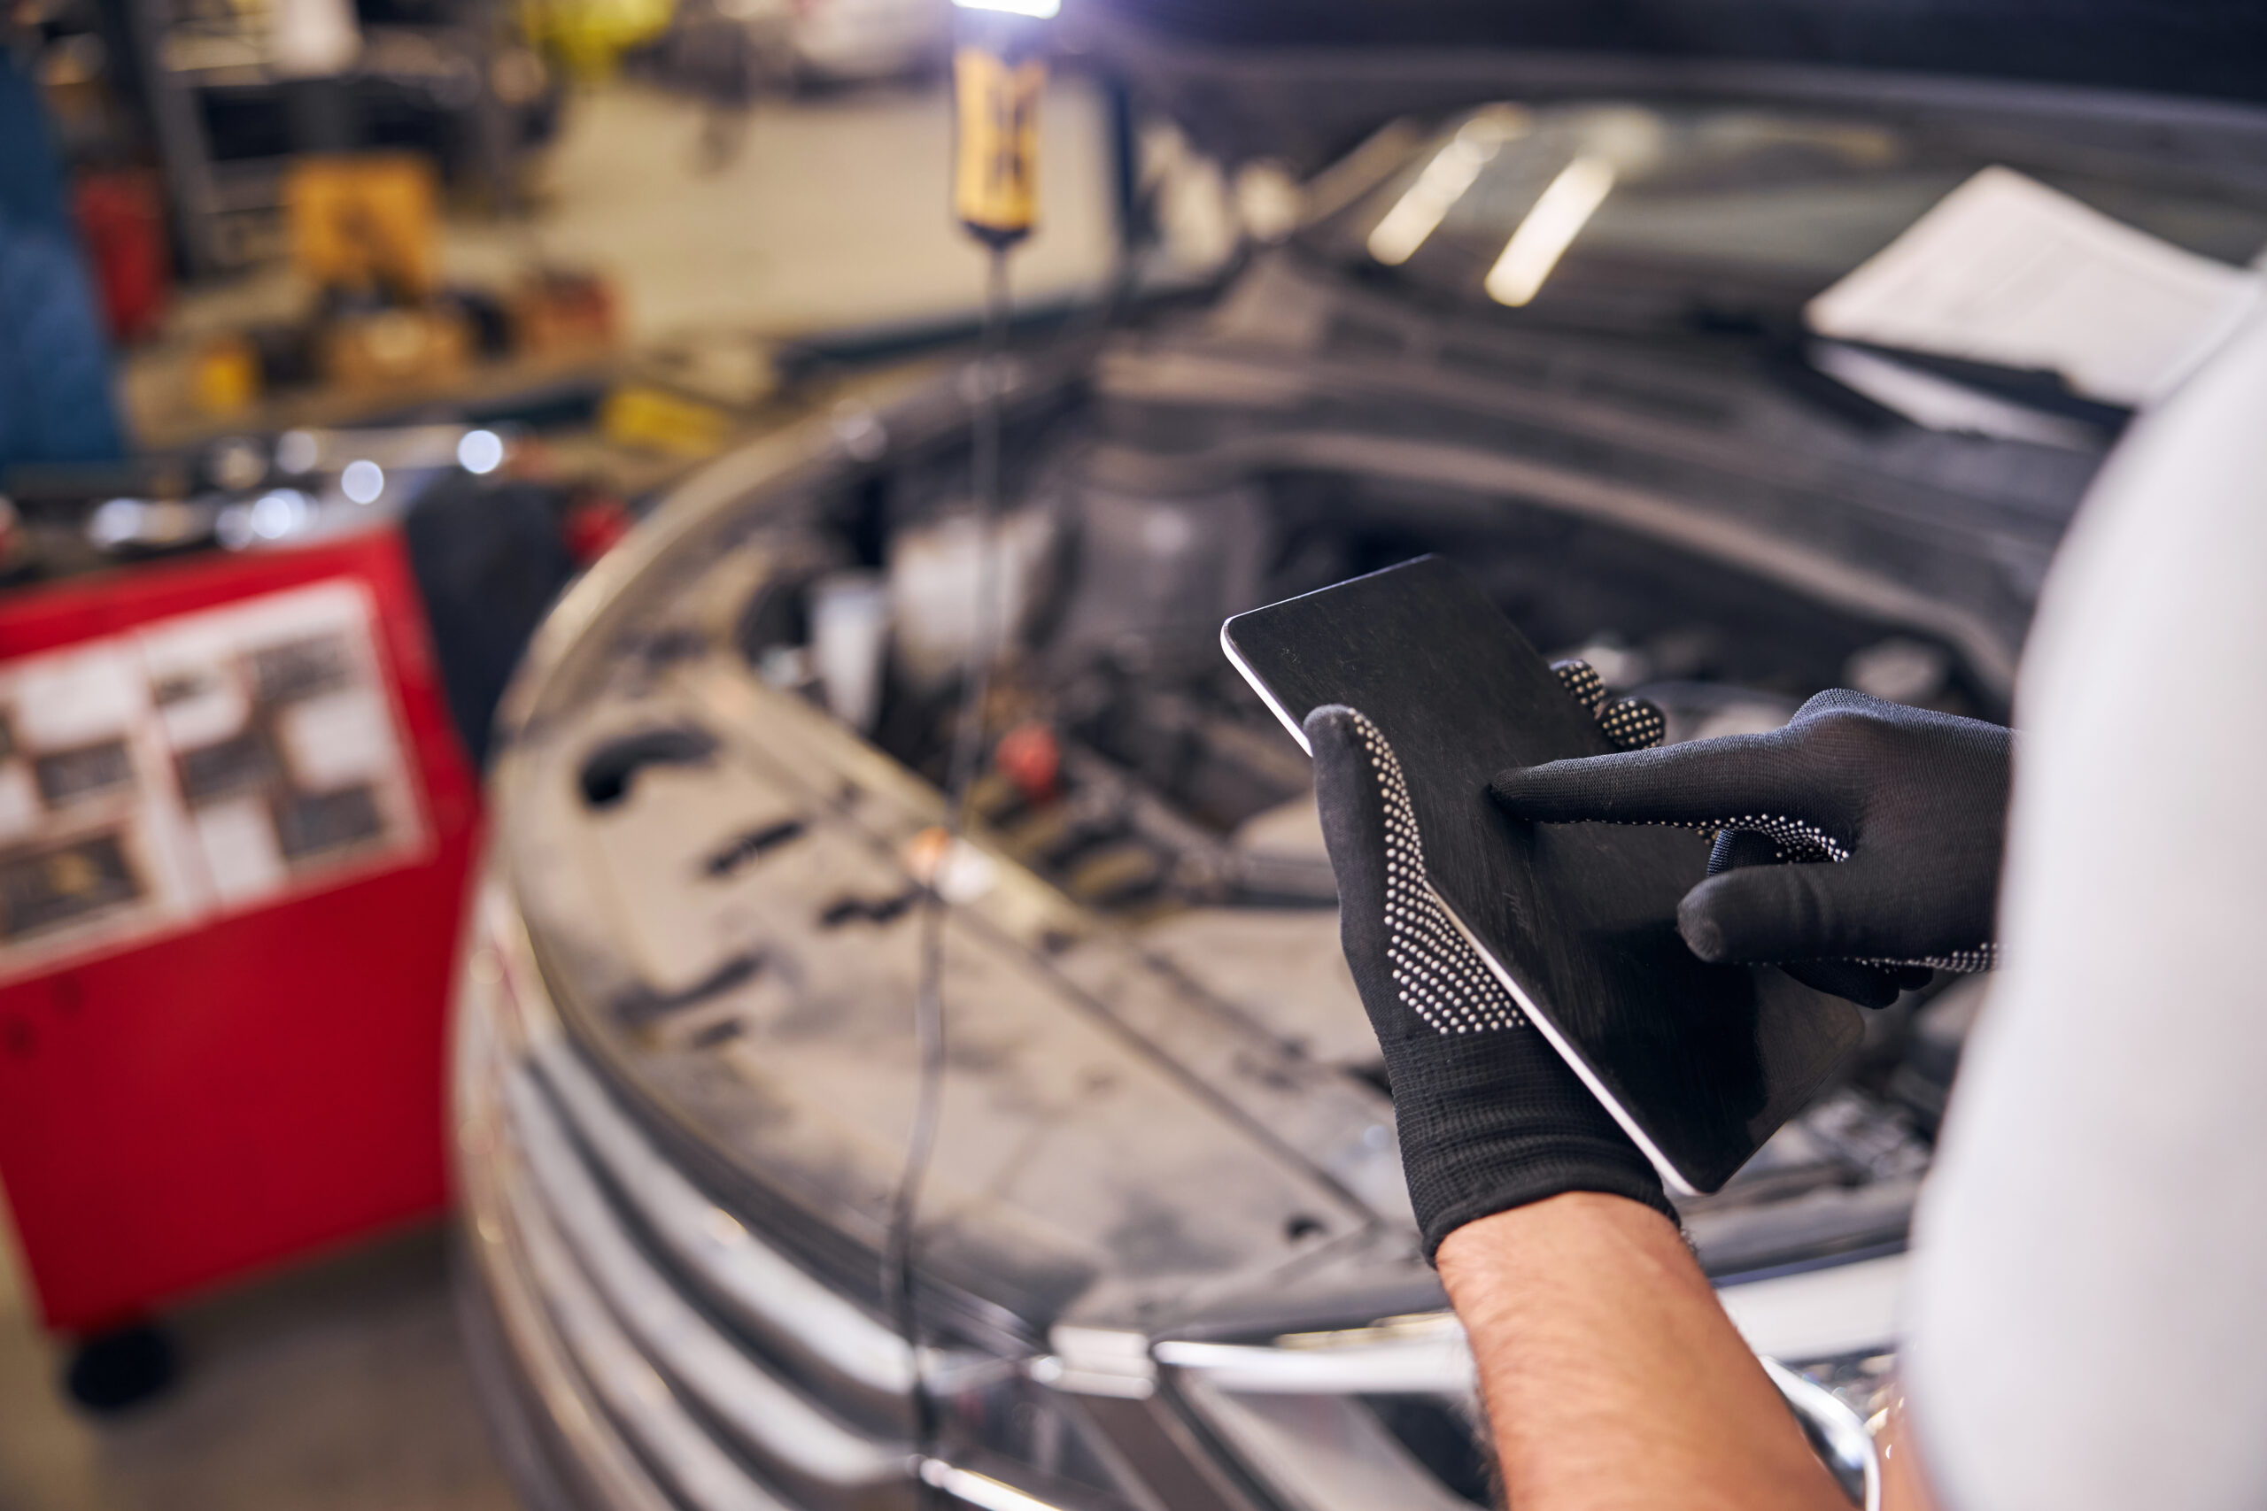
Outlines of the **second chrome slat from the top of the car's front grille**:
M644 1352L685 1391L748 1448L812 1479L866 1486L905 1475L907 1445L873 1441L825 1416L676 1294L617 1226L526 1067L510 1076L506 1099L546 1214Z

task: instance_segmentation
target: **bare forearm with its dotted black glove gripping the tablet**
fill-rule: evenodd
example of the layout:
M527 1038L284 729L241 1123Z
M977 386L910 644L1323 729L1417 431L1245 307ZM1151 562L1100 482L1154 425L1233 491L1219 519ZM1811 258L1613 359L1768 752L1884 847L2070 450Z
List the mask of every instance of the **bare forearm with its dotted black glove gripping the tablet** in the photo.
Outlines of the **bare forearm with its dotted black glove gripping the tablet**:
M1385 736L1306 720L1340 940L1426 1253L1480 1364L1510 1504L1845 1502L1684 1248L1653 1167L1421 881Z

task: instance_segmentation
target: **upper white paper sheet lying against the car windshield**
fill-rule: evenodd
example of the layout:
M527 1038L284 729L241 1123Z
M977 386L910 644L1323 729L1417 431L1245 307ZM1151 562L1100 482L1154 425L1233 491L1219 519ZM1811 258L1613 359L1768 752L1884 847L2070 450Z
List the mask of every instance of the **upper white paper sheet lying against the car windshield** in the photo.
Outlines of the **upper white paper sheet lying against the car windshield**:
M2145 406L2242 322L2260 279L2011 168L1986 168L1805 313L1820 335L2058 372Z

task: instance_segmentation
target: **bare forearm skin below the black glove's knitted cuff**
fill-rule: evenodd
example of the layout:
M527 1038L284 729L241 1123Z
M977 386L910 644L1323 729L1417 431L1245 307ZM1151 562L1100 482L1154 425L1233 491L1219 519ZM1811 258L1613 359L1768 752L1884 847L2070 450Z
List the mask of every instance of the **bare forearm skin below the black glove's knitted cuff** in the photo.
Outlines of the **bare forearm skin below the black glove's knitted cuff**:
M1440 1246L1519 1511L1841 1511L1780 1393L1657 1212L1571 1192Z

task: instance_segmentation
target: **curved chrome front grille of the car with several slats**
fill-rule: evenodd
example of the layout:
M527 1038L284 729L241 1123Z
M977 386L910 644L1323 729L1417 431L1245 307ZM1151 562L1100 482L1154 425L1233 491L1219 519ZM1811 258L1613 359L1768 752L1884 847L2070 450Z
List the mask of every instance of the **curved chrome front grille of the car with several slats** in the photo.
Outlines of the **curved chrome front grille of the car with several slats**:
M467 970L465 1207L519 1371L583 1477L610 1504L701 1511L850 1506L907 1486L911 1445L871 1425L905 1400L905 1346L694 1192L526 981L494 933ZM766 1343L832 1395L864 1398L868 1420L766 1366Z

